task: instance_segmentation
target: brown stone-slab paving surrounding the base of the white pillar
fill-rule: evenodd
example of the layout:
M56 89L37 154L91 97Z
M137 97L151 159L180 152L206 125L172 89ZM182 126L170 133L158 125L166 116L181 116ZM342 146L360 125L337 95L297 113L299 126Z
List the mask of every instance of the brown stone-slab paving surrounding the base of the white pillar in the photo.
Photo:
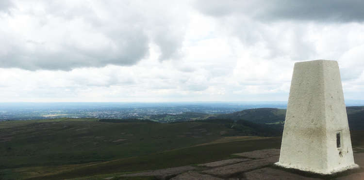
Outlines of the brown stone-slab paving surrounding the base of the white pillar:
M173 167L127 174L127 177L153 176L161 180L364 180L364 168L320 176L273 165L280 150L255 150L233 154L234 159L200 165ZM364 167L364 153L354 153L355 163ZM113 177L107 178L113 179Z

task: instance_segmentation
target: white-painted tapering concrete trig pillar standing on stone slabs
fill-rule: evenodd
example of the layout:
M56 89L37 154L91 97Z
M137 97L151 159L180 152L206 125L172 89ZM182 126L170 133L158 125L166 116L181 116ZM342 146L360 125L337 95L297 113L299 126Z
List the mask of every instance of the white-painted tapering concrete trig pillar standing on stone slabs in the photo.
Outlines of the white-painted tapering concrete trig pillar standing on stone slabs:
M276 165L319 174L359 167L354 163L337 61L295 63Z

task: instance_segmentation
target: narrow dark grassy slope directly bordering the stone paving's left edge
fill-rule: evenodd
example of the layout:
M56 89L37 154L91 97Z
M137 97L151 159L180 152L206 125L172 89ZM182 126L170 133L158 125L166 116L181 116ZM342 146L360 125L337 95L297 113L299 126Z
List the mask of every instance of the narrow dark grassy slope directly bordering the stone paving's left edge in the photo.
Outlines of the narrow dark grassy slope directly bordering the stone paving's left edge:
M149 169L159 169L182 165L193 165L221 160L231 157L232 153L259 150L265 148L279 148L281 139L271 137L246 141L194 146L178 150L152 153L127 159L85 165L56 175L46 176L46 179L68 179L115 172L132 172ZM35 178L36 179L36 178Z

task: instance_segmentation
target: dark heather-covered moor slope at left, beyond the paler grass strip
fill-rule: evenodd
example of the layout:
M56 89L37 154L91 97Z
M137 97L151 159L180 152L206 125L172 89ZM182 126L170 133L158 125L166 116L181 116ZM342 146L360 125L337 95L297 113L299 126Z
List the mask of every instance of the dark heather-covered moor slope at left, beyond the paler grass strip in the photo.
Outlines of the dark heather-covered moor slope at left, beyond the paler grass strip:
M206 143L234 132L223 124L184 122L39 122L0 131L0 168L80 164ZM238 134L236 134L238 135Z

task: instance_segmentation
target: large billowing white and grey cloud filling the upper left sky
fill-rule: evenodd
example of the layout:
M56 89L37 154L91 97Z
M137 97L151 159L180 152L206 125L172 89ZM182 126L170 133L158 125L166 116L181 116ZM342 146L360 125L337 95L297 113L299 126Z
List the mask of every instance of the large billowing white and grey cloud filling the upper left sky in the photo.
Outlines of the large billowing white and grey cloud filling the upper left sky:
M35 27L24 30L25 34L17 34L19 31L13 32L7 27L5 33L0 34L0 40L4 40L0 47L6 47L0 50L0 67L69 71L109 64L131 66L148 57L150 43L160 47L161 60L178 58L184 25L171 23L174 17L167 10L158 14L165 15L164 18L155 15L153 11L159 10L149 6L157 7L158 4L138 1L92 1L94 4L76 5L63 1L35 2L44 6L45 13L32 8L12 12L13 17L17 14L29 16ZM151 10L145 12L145 8ZM0 19L0 26L6 27L5 22ZM39 38L37 29L48 31Z

